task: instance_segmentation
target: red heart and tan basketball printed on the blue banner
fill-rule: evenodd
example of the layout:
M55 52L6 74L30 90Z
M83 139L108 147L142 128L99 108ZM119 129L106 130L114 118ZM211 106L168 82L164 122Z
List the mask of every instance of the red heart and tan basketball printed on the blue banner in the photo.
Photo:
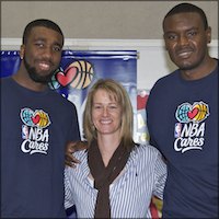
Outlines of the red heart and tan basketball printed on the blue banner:
M56 80L62 85L74 89L87 88L94 76L93 66L85 60L77 60L70 64L65 71L56 73Z

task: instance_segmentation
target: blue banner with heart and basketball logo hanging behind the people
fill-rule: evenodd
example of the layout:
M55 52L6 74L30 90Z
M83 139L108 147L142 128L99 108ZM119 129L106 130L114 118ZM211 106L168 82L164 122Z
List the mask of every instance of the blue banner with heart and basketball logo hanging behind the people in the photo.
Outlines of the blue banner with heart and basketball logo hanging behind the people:
M1 51L1 77L13 74L19 66L20 56L18 50ZM136 120L136 50L64 50L60 67L54 73L49 87L74 103L80 128L82 128L81 119L87 93L100 78L112 78L124 85L129 93L135 113L134 120ZM136 127L134 129L136 130Z

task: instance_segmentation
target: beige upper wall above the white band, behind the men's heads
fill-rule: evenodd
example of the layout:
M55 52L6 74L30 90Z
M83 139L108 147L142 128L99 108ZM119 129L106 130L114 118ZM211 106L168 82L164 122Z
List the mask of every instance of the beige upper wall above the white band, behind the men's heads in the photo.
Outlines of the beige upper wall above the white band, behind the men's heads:
M21 37L24 26L35 19L57 22L66 38L162 39L162 21L168 11L183 1L146 0L2 0L1 37ZM192 1L200 7L218 39L218 1Z

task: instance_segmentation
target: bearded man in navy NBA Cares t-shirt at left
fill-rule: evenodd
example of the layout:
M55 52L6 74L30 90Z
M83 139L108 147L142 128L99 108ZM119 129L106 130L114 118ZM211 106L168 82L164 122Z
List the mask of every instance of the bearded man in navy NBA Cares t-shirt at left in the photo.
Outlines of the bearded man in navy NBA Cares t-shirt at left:
M76 106L48 88L64 34L49 20L28 23L21 66L1 80L1 217L65 218L65 146L79 140Z

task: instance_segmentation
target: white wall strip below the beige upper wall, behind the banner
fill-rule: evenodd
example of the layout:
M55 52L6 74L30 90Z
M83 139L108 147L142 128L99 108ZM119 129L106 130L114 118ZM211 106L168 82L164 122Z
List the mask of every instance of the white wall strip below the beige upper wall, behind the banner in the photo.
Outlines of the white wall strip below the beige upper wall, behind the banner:
M1 38L1 50L20 49L21 38ZM64 49L72 50L138 50L137 88L150 90L154 82L176 67L166 54L161 39L71 39ZM218 41L209 44L212 57L218 58Z

